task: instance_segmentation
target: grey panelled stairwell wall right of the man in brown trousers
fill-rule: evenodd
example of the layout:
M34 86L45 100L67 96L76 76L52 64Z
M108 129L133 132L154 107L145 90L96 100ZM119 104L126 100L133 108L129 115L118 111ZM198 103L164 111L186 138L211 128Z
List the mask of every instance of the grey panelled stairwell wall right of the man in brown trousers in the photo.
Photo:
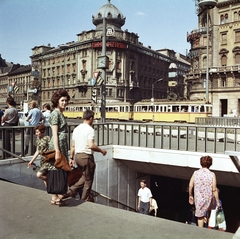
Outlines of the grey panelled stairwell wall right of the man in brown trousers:
M136 176L137 173L124 164L121 160L113 159L113 147L105 147L107 155L95 153L96 173L93 190L117 200L132 208L136 208ZM97 202L117 206L117 203L97 197Z

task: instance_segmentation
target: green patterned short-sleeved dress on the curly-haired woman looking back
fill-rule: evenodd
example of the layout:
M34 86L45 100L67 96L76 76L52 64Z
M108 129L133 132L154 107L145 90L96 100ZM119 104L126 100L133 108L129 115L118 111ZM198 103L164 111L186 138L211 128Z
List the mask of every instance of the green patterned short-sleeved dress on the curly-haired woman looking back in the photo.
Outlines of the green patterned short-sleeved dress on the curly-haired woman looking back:
M53 125L58 125L58 146L63 153L63 155L68 158L68 144L67 144L67 121L65 120L62 113L60 113L58 110L53 110L50 118L49 118L49 124L52 127ZM51 138L50 144L49 144L49 150L54 150L54 144L53 144L53 137Z

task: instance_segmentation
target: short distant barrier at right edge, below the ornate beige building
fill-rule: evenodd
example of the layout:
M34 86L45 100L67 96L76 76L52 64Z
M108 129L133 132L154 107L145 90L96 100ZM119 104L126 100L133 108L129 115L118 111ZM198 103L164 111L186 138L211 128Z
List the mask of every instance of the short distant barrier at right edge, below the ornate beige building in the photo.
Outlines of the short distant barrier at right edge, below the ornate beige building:
M208 117L196 118L195 124L206 126L240 126L240 118L238 117Z

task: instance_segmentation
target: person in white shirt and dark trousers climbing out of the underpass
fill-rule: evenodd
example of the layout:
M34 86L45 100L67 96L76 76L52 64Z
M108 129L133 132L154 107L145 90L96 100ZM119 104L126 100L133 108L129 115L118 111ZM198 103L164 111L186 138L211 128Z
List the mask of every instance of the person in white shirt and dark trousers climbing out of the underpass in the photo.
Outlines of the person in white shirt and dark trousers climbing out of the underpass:
M146 180L141 180L141 188L138 190L138 210L142 214L149 214L152 209L152 193L147 187Z

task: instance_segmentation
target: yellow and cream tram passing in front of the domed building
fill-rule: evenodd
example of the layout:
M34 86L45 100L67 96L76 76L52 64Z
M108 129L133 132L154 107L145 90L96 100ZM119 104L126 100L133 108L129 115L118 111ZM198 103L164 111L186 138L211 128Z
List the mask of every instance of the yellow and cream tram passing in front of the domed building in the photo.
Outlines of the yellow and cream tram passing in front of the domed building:
M101 107L91 104L68 106L64 111L66 118L82 118L86 109L95 112L95 119L101 119ZM107 103L107 120L135 120L155 122L186 122L195 123L198 117L212 116L212 105L202 101L184 102L129 102Z

